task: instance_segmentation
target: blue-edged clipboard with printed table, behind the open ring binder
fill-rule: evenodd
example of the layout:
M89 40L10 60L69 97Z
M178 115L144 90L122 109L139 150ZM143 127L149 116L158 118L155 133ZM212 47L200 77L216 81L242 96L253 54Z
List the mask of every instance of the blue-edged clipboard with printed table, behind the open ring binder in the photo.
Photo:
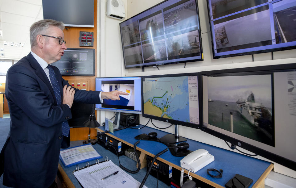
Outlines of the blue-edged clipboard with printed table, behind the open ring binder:
M100 158L102 156L92 147L92 144L61 149L60 151L60 160L65 167Z

